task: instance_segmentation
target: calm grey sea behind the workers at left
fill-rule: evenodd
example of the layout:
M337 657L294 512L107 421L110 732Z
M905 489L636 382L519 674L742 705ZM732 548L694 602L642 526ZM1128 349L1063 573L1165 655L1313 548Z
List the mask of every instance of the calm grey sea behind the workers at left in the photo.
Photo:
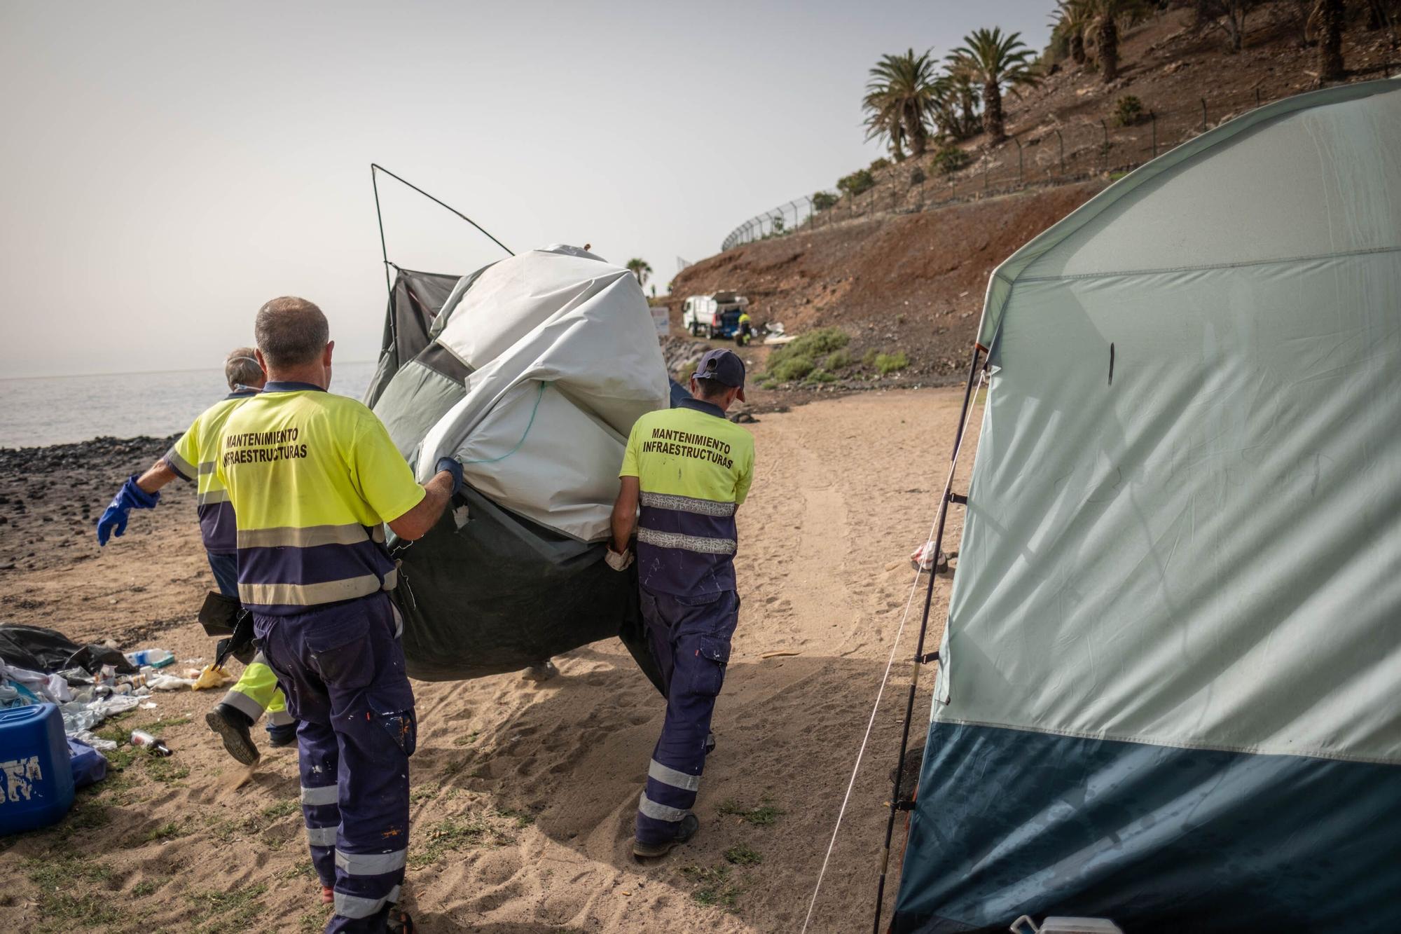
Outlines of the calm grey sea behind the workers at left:
M336 363L331 391L361 398L373 362ZM228 394L223 369L0 380L0 447L66 445L101 435L164 438Z

